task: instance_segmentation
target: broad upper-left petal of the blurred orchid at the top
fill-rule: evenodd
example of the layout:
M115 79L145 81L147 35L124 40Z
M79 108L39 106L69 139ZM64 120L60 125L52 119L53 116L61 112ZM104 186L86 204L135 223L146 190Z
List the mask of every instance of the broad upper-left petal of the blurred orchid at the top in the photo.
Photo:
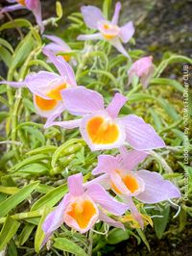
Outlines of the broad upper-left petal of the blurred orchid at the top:
M91 29L97 29L98 22L105 20L102 11L97 7L83 6L81 12L83 13L84 23Z

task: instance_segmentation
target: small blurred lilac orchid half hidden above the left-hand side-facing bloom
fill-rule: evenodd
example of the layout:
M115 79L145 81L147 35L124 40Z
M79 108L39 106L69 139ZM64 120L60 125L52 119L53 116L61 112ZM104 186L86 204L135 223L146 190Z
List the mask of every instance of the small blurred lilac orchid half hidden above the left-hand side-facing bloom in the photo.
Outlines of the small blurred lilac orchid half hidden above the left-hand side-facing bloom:
M60 56L62 56L66 62L70 61L70 56L64 53L70 53L72 50L65 41L56 36L43 35L43 37L51 40L50 43L44 46L44 49L52 51L55 55L63 53L63 55Z

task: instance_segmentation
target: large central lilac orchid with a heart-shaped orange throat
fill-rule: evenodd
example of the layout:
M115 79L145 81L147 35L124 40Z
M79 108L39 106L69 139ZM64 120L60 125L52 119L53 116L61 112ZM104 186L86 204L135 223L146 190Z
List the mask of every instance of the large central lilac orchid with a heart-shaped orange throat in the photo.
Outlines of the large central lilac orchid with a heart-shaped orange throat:
M70 121L47 122L45 127L59 125L65 129L80 127L84 141L91 150L118 148L128 141L137 150L150 150L164 147L164 141L154 128L137 115L118 117L127 98L116 93L104 107L103 96L84 87L66 89L61 92L65 108L73 115L83 118Z

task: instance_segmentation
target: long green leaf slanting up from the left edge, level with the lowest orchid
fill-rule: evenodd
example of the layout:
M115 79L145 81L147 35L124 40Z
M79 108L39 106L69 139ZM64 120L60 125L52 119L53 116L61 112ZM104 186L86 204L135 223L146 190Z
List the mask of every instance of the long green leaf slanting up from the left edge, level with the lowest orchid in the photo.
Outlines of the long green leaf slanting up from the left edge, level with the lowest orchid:
M0 218L6 216L15 206L25 200L30 194L36 190L38 182L31 183L20 191L8 197L5 201L0 203Z

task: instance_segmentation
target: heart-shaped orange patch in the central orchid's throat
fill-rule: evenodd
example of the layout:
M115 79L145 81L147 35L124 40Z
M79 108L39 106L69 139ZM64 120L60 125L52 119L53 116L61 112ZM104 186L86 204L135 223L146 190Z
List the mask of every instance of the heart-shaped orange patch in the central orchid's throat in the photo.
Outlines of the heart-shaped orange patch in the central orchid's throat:
M116 124L108 123L103 117L95 116L86 125L89 138L95 144L110 144L117 141L119 130Z

